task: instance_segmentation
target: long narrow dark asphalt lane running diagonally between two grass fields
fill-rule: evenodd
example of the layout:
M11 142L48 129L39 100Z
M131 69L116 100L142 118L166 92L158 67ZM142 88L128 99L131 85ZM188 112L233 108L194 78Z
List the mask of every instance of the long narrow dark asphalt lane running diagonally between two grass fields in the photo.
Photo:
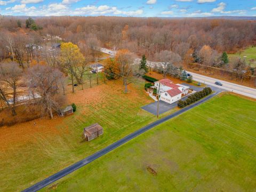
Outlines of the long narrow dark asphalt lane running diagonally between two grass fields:
M120 139L120 140L114 142L113 144L111 144L108 147L98 151L97 153L94 153L94 154L90 155L89 157L86 157L86 158L82 159L81 161L79 161L79 162L77 162L77 163L75 163L73 165L70 165L66 169L63 169L63 170L59 171L58 173L55 173L55 174L51 175L49 178L46 178L46 179L36 183L35 185L33 185L33 186L23 190L23 191L26 191L26 192L27 191L38 191L38 190L40 190L40 189L42 189L42 188L52 184L53 182L55 182L55 181L65 177L67 174L76 171L77 169L83 167L84 165L87 165L87 164L93 162L95 159L97 159L97 158L99 158L99 157L109 153L111 150L116 149L117 147L123 145L124 143L130 141L131 139L137 137L138 135L140 135L140 134L142 134L142 133L152 129L153 127L155 127L155 126L157 126L157 125L159 125L161 123L164 123L164 122L166 122L169 119L177 117L178 115L180 115L180 114L182 114L182 113L184 113L184 112L186 112L186 111L188 111L188 110L190 110L190 109L192 109L192 108L194 108L194 107L196 107L198 105L201 105L201 103L203 103L203 102L213 98L217 94L218 94L218 92L215 92L215 93L209 95L208 97L203 98L202 100L199 100L198 102L191 104L190 106L182 108L179 111L177 111L177 112L175 112L175 113L173 113L173 114L171 114L169 116L161 118L161 119L159 119L159 120L157 120L157 121L155 121L155 122L153 122L153 123L151 123L151 124L149 124L149 125L147 125L145 127L142 127L138 131L135 131L135 132L127 135L123 139Z

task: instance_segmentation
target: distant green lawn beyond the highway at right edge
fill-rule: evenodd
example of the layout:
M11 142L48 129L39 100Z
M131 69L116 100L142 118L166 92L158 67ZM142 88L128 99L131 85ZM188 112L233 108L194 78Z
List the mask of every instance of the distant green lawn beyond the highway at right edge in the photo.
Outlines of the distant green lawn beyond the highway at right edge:
M256 67L256 47L249 47L245 49L240 55L239 53L228 54L230 60L241 57L244 58L246 62L251 65L251 67Z

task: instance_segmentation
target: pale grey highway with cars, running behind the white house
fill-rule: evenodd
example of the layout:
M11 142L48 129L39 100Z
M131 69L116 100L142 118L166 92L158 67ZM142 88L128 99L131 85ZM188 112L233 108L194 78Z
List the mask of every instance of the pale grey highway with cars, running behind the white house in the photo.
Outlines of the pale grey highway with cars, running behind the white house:
M106 49L106 48L102 48L101 51L103 53L107 53L107 54L110 54L109 52L113 52L112 50L109 50L109 49ZM115 52L113 52L110 55L114 56ZM137 60L136 62L138 62L138 58L135 59L135 60ZM148 61L148 62L150 62L150 61ZM153 62L153 63L155 63L155 65L157 65L157 62ZM234 92L234 93L237 93L237 94L244 95L246 97L256 99L256 89L253 89L251 87L238 85L238 84L235 84L235 83L229 83L229 82L222 81L222 80L219 80L219 79L216 79L216 78L207 77L207 76L204 76L204 75L199 75L199 74L196 74L196 73L192 73L190 71L187 71L187 72L190 73L191 75L193 75L193 79L195 81L204 83L206 85L219 87L223 90L227 90L227 91L230 91L230 92ZM219 85L215 85L214 83L217 82L217 81L221 82L223 85L221 87Z

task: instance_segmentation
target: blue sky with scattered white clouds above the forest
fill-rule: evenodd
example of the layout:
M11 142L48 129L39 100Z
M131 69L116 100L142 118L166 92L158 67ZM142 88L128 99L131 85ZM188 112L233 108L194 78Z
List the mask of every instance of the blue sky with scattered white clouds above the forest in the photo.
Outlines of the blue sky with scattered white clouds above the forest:
M2 15L256 16L256 0L0 0Z

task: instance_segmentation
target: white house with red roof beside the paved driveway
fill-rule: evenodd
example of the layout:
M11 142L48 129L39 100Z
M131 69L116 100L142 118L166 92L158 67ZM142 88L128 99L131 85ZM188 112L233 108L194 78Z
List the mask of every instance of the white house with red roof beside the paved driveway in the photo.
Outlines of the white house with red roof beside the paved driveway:
M188 94L188 86L174 84L170 79L161 79L155 82L157 93L160 94L160 100L167 103L174 103L182 98L182 95Z

